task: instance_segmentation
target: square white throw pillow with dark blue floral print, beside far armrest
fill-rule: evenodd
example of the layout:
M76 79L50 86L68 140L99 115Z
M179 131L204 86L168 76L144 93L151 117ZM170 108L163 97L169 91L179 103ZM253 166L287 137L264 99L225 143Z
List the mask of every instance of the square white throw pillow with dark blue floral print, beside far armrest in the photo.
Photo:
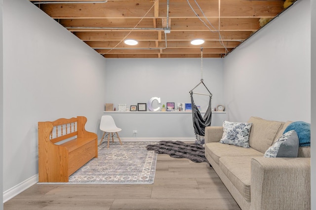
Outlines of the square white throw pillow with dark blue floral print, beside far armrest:
M229 122L224 120L224 132L220 143L249 148L249 133L251 125L251 122Z

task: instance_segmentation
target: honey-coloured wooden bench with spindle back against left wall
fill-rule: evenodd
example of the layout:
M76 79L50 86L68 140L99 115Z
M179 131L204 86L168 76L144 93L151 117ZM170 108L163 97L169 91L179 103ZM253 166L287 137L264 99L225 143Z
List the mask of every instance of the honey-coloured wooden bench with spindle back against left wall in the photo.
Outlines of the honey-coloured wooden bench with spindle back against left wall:
M85 130L87 119L39 122L39 182L68 182L69 176L98 157L97 134Z

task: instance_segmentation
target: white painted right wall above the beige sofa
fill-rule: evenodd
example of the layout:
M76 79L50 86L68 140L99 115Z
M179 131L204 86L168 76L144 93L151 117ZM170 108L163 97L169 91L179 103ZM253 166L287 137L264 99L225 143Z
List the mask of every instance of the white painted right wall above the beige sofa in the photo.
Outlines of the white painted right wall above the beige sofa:
M228 118L311 122L310 1L299 0L224 59Z

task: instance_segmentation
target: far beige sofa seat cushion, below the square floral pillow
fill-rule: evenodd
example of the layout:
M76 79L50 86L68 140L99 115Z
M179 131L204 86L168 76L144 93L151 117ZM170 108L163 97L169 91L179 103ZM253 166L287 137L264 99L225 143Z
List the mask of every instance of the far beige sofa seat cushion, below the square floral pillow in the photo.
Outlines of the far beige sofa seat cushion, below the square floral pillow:
M205 144L205 152L219 165L219 158L225 156L259 156L264 153L252 148L237 147L235 145L221 144L219 142L210 142Z

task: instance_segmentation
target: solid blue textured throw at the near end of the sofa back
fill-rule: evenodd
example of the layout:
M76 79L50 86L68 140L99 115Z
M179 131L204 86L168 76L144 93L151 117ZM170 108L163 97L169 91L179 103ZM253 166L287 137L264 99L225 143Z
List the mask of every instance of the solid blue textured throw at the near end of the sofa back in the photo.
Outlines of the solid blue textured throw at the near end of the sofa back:
M300 140L300 147L311 146L311 124L304 121L296 121L289 124L284 132L295 130Z

